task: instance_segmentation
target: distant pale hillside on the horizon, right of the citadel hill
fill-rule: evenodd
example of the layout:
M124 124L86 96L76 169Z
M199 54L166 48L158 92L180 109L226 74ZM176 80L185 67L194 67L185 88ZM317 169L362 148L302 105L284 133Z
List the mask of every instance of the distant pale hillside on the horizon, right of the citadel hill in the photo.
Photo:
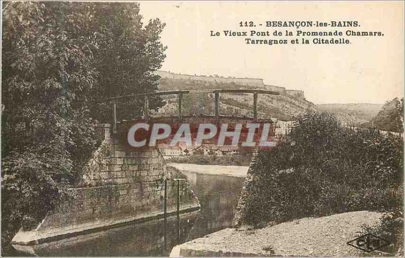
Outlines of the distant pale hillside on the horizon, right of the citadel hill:
M345 125L359 125L376 116L382 104L320 104L316 106L321 111L335 114Z

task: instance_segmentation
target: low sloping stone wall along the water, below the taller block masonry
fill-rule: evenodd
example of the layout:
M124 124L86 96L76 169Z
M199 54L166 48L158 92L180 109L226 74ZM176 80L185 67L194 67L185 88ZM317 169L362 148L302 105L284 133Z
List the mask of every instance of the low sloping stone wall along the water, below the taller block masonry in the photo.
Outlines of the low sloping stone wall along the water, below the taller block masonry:
M164 210L165 182L72 189L75 198L61 201L37 228L38 233L65 233L148 218ZM181 209L196 204L187 183L181 184ZM177 181L167 182L167 210L177 209Z

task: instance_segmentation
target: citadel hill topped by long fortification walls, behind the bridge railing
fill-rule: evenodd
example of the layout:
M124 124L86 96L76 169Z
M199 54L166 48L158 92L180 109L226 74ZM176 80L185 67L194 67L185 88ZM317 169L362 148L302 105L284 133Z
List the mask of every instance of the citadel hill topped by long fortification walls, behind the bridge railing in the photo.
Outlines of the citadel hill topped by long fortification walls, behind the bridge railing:
M212 76L178 75L168 72L158 73L160 91L196 89L257 89L277 91L280 95L259 95L259 118L292 120L300 113L316 112L315 104L305 100L302 91L287 90L282 87L265 85L262 79L224 78ZM166 98L167 104L160 108L159 114L174 115L177 112L176 96ZM213 114L213 94L193 94L183 97L183 113ZM224 115L251 116L253 113L252 94L221 94L220 113Z

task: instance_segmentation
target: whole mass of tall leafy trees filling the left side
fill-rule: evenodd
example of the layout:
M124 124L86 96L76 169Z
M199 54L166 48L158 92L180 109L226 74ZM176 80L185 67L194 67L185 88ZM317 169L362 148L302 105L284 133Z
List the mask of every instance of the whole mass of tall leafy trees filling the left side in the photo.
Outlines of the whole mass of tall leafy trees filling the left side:
M12 2L2 41L2 243L57 205L95 149L104 98L157 90L164 24L136 3ZM150 108L161 106L160 99ZM120 102L121 119L142 114ZM4 244L2 245L4 246Z

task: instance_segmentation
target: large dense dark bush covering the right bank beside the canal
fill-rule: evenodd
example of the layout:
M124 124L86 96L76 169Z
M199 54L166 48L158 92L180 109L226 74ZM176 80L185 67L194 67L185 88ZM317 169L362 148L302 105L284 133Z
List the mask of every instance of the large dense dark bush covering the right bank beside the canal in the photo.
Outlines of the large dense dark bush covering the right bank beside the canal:
M402 217L403 140L343 127L328 113L298 117L288 138L260 151L246 185L242 223L374 210Z

